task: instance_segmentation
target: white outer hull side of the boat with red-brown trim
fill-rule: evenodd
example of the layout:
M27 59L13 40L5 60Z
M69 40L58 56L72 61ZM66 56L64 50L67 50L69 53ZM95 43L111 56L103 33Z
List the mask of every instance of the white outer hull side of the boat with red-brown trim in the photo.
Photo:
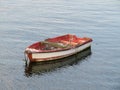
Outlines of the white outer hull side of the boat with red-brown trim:
M40 61L51 61L56 59L61 59L64 57L68 57L74 55L78 52L85 50L86 48L91 46L91 42L87 42L83 45L77 46L75 48L71 48L68 50L56 51L56 52L44 52L44 53L25 53L26 60L30 62L40 62Z

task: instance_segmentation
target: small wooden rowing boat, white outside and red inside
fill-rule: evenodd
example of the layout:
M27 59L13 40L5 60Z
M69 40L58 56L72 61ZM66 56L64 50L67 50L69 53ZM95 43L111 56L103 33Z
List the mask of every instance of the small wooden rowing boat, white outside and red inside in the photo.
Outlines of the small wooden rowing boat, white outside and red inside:
M71 56L91 46L92 39L67 34L36 42L25 49L27 61L50 61Z

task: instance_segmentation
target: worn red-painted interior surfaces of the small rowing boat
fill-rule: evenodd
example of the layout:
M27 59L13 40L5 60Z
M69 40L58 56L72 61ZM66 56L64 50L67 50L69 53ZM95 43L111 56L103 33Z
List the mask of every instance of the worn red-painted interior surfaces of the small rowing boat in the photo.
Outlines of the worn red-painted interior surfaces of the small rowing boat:
M92 41L92 39L87 38L87 37L78 38L75 35L67 34L67 35L58 36L55 38L49 38L49 39L46 39L45 41L62 43L62 44L66 44L66 45L69 44L72 47L75 47L75 46L79 46L79 45L85 44L87 42L90 42L90 41ZM41 42L34 43L34 44L30 45L28 48L39 50L39 52L52 52L52 51L63 50L63 48L57 49L57 50L54 50L54 49L53 50L44 50L45 45L43 45ZM68 49L68 48L65 48L65 49Z

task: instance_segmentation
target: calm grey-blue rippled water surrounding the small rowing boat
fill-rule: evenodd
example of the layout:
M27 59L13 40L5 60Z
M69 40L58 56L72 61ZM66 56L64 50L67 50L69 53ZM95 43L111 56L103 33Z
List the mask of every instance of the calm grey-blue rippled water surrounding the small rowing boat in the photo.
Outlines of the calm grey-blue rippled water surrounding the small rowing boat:
M28 45L68 33L93 38L84 58L25 67ZM0 0L0 90L120 90L120 0Z

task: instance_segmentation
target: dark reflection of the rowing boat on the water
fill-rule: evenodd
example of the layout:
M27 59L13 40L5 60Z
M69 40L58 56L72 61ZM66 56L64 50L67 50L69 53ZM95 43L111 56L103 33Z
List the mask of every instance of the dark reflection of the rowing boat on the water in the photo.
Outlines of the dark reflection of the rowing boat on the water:
M63 59L57 59L54 61L47 61L47 62L29 63L26 64L25 66L25 75L27 77L32 75L43 75L45 73L58 70L64 66L76 65L79 62L85 60L85 58L90 55L91 55L91 47L85 49L82 52L79 52L75 55Z

